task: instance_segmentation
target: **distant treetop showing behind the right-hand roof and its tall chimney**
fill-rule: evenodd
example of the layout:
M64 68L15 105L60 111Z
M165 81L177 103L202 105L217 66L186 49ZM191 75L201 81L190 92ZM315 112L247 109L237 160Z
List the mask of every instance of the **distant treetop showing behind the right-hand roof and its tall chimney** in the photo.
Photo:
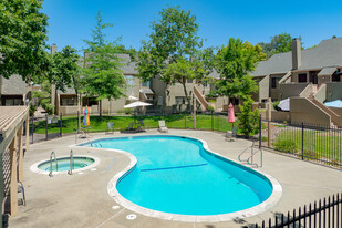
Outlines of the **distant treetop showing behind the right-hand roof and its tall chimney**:
M289 33L281 33L274 37L271 37L270 43L259 43L262 48L262 52L266 53L267 59L271 58L273 54L284 53L292 51L292 37ZM301 40L301 37L299 37ZM303 45L303 43L301 43Z

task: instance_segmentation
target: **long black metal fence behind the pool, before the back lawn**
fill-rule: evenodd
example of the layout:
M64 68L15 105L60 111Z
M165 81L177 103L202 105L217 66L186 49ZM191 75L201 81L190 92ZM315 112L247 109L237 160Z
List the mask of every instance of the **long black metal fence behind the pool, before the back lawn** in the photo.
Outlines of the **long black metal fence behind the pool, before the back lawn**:
M168 128L194 129L194 115L191 113L166 114L163 112L147 114L92 114L90 126L83 125L84 115L44 115L30 118L30 142L48 141L61 137L63 134L75 134L79 129L86 128L90 133L106 132L107 122L114 123L114 129L125 132L128 128L132 133L137 127L143 129L158 128L158 121L164 120ZM141 125L143 123L143 125ZM131 125L131 127L129 127ZM132 127L133 126L133 127ZM232 124L227 122L227 113L197 113L196 129L227 132L232 128Z

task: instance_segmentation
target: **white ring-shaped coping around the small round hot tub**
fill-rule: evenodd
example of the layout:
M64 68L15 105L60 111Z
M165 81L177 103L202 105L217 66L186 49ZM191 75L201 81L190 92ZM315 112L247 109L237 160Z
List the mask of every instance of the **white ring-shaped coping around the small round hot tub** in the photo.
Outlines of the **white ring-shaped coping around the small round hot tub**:
M96 167L97 165L100 165L101 163L101 159L99 157L94 157L94 156L90 156L90 155L74 155L73 157L89 157L89 158L92 158L94 159L94 163L89 165L89 166L85 166L83 168L77 168L77 169L72 169L72 173L79 173L79 172L84 172L84 170L87 170L87 169L91 169L91 168L94 168ZM70 156L62 156L62 157L56 157L56 159L59 158L70 158ZM40 160L40 162L37 162L34 164L32 164L30 166L30 170L33 172L33 173L37 173L37 174L43 174L43 175L49 175L50 172L46 172L46 170L42 170L40 168L38 168L38 166L42 163L45 163L45 162L49 162L49 159L43 159L43 160ZM52 172L53 175L59 175L59 174L68 174L69 170L63 170L63 172Z

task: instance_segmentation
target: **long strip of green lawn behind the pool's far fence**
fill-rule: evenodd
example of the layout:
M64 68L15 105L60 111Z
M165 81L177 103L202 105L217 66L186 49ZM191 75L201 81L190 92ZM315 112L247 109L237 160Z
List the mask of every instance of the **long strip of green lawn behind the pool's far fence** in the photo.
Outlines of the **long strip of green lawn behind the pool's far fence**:
M133 116L91 116L91 132L104 132L106 129L107 122L114 122L115 129L124 129L128 126L131 122L134 122ZM185 115L165 115L165 116L144 116L144 124L146 128L157 128L158 121L165 120L166 126L169 128L194 128L193 116L187 115L185 121ZM213 123L211 123L213 120ZM82 125L83 116L81 118ZM238 121L235 123L238 125ZM83 125L82 125L83 126ZM77 117L68 116L63 117L62 121L62 133L74 133L77 128ZM232 124L227 122L226 116L213 116L211 115L197 115L196 116L196 128L198 129L215 129L219 132L227 132L232 128ZM50 133L59 133L60 124L50 124ZM45 134L45 121L37 122L34 124L34 133Z

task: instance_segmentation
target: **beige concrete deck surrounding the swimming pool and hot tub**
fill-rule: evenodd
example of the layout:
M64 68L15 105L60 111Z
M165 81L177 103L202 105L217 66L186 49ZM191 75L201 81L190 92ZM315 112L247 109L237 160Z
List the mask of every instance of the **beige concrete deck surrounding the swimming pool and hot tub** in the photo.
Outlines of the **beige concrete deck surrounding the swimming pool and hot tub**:
M105 135L93 134L91 139L128 135L160 134L156 129L139 134ZM237 139L225 141L221 133L203 131L169 129L168 134L200 138L208 143L211 151L237 160L238 155L251 142ZM164 134L163 134L164 135ZM79 139L77 143L85 143ZM129 164L129 158L121 153L101 148L75 148L74 135L30 145L24 156L24 182L27 206L19 207L19 215L10 218L10 227L249 227L262 219L273 218L276 214L287 213L323 197L342 191L342 172L309 162L263 151L263 167L257 168L278 179L282 186L282 197L269 210L253 217L224 222L182 222L143 216L117 205L107 193L110 179ZM56 156L68 156L70 149L74 155L90 155L101 159L95 169L74 173L73 175L48 175L32 173L30 166L48 159L55 151ZM257 157L258 159L258 157ZM20 197L21 195L19 195ZM133 218L136 215L136 219Z

